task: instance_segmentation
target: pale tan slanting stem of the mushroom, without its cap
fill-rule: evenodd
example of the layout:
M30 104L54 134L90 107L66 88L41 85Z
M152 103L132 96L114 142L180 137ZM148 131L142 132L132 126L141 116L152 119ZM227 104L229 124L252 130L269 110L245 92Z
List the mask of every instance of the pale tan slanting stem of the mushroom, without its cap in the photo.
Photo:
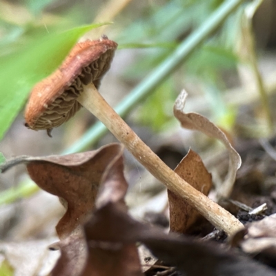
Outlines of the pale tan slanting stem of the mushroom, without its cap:
M244 228L233 215L214 201L190 186L166 164L133 132L126 122L101 97L93 84L84 86L79 103L95 115L106 128L135 156L135 158L169 190L179 195L201 213L211 224L233 235Z

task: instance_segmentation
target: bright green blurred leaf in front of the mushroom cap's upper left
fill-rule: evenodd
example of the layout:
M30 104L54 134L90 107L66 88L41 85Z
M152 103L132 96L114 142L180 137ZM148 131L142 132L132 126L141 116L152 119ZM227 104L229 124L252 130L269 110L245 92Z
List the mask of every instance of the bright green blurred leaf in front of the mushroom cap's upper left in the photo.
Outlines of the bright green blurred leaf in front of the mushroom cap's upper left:
M26 102L34 83L60 65L82 34L105 24L108 23L48 34L17 52L0 57L0 140Z

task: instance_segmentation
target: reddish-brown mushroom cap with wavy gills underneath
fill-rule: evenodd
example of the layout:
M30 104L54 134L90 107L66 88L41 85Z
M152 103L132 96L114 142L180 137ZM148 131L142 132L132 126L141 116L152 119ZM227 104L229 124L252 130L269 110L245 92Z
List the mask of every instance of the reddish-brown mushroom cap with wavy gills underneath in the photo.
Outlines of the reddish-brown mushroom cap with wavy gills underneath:
M117 43L102 37L79 42L61 66L32 89L26 106L26 126L48 130L60 126L81 108L77 101L83 85L94 83L96 88L110 63Z

